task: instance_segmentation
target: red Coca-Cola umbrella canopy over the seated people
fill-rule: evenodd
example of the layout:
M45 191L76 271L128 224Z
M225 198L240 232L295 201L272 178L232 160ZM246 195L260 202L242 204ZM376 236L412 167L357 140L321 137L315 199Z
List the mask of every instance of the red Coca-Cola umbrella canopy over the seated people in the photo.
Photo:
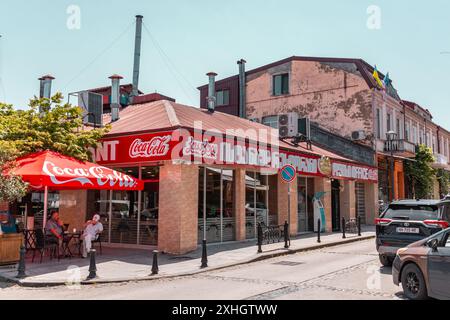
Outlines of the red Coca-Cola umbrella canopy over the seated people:
M142 190L143 181L122 172L83 162L53 151L42 151L16 159L11 170L30 187L43 190L96 189Z

